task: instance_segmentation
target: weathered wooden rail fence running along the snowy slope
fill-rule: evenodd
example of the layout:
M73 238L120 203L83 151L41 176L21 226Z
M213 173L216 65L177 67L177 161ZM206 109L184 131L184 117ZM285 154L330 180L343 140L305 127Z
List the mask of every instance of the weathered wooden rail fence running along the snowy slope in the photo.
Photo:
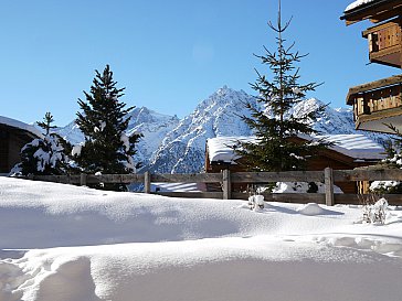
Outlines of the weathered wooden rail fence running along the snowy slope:
M77 175L33 175L27 179L66 184L95 183L144 183L144 192L151 193L151 183L220 183L222 192L154 192L177 197L209 197L247 200L248 195L232 191L233 183L268 183L268 182L324 182L325 193L264 193L265 201L319 204L360 204L363 194L335 194L334 182L350 181L402 181L402 170L332 170L324 171L287 171L287 172L236 172L224 170L222 173L193 174L77 174ZM402 195L384 195L390 204L402 205Z

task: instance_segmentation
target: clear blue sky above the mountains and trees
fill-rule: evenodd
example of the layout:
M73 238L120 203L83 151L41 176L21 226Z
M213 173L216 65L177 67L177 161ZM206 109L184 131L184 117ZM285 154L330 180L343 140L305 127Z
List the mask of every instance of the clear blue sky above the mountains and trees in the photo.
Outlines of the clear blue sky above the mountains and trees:
M367 65L370 23L339 20L350 2L283 0L285 39L309 54L300 82L324 82L308 96L332 107L346 107L350 86L399 72ZM64 126L106 64L127 105L179 117L223 85L253 94L254 68L267 73L253 53L275 50L276 17L277 0L2 0L0 115L33 122L51 111Z

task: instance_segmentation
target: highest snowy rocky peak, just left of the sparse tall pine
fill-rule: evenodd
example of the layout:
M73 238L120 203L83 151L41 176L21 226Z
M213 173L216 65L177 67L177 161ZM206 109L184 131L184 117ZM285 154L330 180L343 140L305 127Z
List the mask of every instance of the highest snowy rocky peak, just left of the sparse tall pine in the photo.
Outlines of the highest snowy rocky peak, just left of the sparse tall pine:
M248 115L244 106L247 101L254 99L243 90L226 86L216 90L167 135L149 169L163 173L201 171L208 138L251 135L250 128L241 120L241 116Z

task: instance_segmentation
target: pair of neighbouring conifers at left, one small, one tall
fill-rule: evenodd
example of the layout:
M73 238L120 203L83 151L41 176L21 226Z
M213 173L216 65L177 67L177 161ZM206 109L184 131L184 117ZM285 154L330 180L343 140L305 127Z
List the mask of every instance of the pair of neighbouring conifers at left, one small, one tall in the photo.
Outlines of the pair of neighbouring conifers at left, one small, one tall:
M135 107L126 108L120 100L125 88L117 88L109 65L93 80L85 99L78 99L81 111L75 120L84 133L83 143L72 146L54 132L53 116L46 112L38 125L43 129L43 138L34 139L21 150L21 162L11 171L12 175L62 175L74 173L118 173L136 172L140 162L134 161L136 144L140 133L126 135ZM97 189L126 190L123 184L97 184Z

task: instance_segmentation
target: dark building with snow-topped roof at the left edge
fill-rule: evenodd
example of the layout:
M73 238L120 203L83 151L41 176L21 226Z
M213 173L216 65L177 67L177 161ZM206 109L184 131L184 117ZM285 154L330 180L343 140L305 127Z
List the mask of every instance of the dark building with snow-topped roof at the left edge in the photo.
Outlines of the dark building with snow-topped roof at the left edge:
M8 174L21 161L23 146L41 136L33 126L0 116L0 174Z

